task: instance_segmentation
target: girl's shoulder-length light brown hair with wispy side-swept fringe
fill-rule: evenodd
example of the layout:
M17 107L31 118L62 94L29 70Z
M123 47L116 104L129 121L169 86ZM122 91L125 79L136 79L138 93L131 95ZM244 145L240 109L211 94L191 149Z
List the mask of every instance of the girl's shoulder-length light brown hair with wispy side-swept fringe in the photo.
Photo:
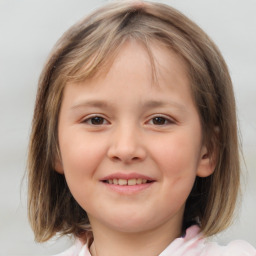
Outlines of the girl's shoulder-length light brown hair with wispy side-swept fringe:
M64 175L54 170L62 95L67 82L93 77L129 39L142 42L149 54L152 40L164 43L185 60L204 142L217 162L211 176L196 178L183 229L197 218L210 236L231 222L240 165L235 99L225 61L209 37L177 10L123 1L106 5L71 27L40 76L28 157L28 210L37 241L57 232L87 238L91 234L86 212L71 195Z

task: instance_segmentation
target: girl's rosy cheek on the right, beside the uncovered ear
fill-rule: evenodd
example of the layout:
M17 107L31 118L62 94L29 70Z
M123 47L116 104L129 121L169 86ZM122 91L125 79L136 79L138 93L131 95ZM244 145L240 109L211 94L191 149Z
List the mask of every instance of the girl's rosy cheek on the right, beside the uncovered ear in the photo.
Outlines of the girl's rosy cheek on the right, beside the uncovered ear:
M199 159L200 137L181 134L168 138L153 148L155 162L164 184L163 200L183 204L195 181Z

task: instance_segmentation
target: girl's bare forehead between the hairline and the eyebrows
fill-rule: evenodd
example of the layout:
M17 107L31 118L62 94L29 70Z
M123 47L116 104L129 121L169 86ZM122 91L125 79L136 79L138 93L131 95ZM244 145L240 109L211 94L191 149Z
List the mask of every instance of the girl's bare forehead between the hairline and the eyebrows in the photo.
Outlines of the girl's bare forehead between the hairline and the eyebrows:
M85 98L91 102L102 99L115 102L122 97L122 103L126 100L136 103L134 99L168 102L171 96L177 101L181 97L192 101L186 64L182 58L157 43L150 45L149 52L137 41L127 41L115 58L95 76L80 83L71 82L65 91L68 91L65 94L70 100L76 98L78 105Z

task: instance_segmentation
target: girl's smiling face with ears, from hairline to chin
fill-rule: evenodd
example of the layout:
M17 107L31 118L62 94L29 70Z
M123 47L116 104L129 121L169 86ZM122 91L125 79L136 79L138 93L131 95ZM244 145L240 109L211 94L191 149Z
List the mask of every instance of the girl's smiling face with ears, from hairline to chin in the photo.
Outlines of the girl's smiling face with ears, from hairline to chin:
M64 91L56 170L93 229L179 234L195 177L213 171L186 66L151 46L157 84L147 52L130 41L108 70Z

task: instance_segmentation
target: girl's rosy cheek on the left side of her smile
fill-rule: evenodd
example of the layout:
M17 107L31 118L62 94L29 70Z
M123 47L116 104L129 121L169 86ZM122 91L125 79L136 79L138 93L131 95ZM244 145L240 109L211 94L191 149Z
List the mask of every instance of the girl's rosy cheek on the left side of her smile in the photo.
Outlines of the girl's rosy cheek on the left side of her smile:
M95 173L105 156L105 149L99 146L103 143L97 139L75 134L65 138L70 138L60 145L65 179L73 197L86 209L95 195Z

